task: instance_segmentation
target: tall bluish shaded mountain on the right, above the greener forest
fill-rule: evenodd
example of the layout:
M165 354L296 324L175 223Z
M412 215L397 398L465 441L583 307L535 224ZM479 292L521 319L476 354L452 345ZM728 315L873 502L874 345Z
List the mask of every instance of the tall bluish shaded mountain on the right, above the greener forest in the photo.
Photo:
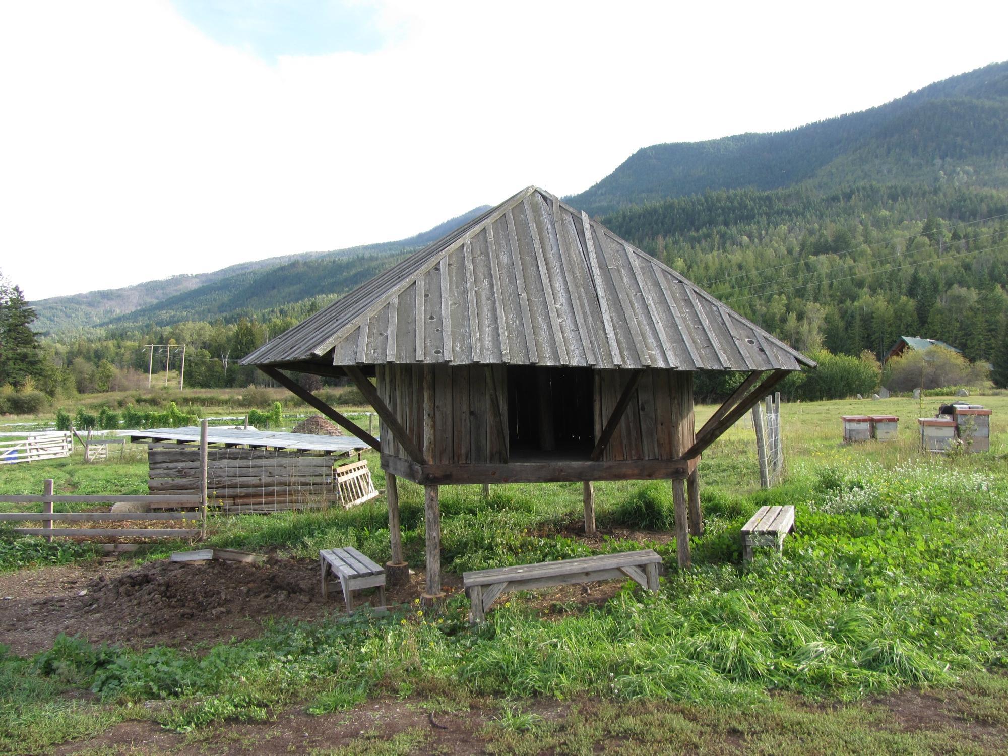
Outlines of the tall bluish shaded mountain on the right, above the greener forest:
M1008 62L789 131L644 147L568 198L592 215L713 190L855 181L1008 186Z

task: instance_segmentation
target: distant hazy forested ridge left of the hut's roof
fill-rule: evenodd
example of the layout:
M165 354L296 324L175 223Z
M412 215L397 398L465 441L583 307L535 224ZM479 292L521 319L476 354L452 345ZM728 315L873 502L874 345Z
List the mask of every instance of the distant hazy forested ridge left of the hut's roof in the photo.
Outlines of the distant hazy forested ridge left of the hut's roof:
M485 212L487 207L474 208L399 241L270 257L211 273L175 275L125 288L39 299L31 303L38 316L34 328L43 334L56 334L113 323L177 323L230 316L239 309L258 311L322 293L339 294L347 290L341 283L344 277L358 282L365 280L389 264L388 260L380 261L382 256L394 256L429 244ZM312 280L297 281L298 275ZM243 300L243 296L249 298Z

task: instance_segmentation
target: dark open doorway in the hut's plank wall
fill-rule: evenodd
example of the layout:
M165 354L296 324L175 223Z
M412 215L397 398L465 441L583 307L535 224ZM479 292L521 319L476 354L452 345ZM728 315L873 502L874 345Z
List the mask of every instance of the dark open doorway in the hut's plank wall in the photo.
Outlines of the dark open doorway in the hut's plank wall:
M595 447L591 368L507 369L511 458L585 460Z

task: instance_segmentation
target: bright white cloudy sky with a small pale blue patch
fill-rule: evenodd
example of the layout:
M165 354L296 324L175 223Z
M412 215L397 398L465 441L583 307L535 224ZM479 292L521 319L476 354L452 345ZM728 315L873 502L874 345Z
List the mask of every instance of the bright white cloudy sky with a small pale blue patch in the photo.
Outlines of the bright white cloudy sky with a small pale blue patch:
M399 239L641 146L1008 58L1008 3L9 0L0 270L38 299Z

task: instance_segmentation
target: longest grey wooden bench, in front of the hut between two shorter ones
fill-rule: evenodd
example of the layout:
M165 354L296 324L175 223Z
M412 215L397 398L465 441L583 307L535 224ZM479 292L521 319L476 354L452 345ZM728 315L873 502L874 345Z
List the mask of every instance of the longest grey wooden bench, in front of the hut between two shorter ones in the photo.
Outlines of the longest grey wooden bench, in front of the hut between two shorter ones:
M462 580L472 607L469 619L475 623L482 622L497 597L507 591L626 578L636 581L648 591L657 591L659 564L661 557L646 548L578 559L540 561L537 564L477 570L464 573Z

